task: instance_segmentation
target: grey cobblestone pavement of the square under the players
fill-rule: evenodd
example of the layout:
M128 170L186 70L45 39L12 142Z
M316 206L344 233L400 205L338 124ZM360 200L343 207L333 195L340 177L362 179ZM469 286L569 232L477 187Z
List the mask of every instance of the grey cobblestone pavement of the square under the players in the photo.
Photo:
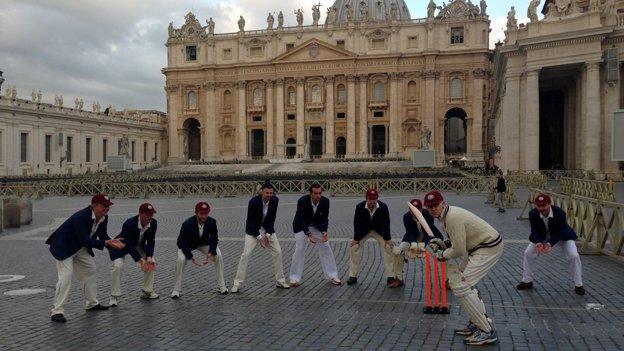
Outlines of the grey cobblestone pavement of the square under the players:
M420 194L422 197L422 194ZM567 263L559 250L538 260L536 286L515 289L521 278L522 253L529 225L518 221L520 209L504 214L484 205L484 196L446 194L447 202L484 217L505 239L505 253L479 284L486 308L496 323L502 350L621 350L624 348L624 264L605 256L582 256L585 296L573 292ZM525 199L520 192L518 198ZM382 194L391 212L393 238L403 235L401 216L409 196ZM25 279L0 283L0 349L2 350L220 350L220 349L465 349L453 329L467 320L449 294L450 315L424 315L422 261L407 265L406 286L388 289L377 244L366 244L359 284L335 287L323 278L318 256L311 248L302 286L275 289L270 256L254 251L248 278L239 294L216 293L212 266L188 265L182 298L168 296L173 286L175 237L182 221L193 213L199 198L152 198L158 210L156 290L159 300L138 298L139 270L126 261L119 307L85 312L83 296L74 281L66 306L68 323L50 322L56 270L44 245L45 238L63 219L88 202L86 197L46 198L34 201L33 224L0 234L0 275ZM219 244L228 287L243 248L247 198L208 199L219 225ZM292 217L296 195L280 196L276 230L288 274L294 250ZM140 199L116 199L109 233L118 233L133 215ZM360 199L332 198L330 236L341 278L347 278L348 242L353 210ZM96 251L98 291L107 304L111 262ZM1 280L2 277L0 277ZM7 296L21 288L43 288L45 293ZM603 304L586 310L587 303Z

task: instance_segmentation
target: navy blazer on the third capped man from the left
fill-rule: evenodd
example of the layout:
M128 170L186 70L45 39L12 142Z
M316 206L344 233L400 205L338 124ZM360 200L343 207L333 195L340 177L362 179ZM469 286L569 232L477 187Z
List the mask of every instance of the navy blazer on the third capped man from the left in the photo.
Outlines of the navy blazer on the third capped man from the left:
M217 255L217 244L219 243L219 233L217 231L217 221L208 217L204 222L204 232L199 235L199 226L197 225L197 216L193 216L184 223L180 228L177 245L187 260L193 258L192 250L196 250L200 246L210 246L209 252Z

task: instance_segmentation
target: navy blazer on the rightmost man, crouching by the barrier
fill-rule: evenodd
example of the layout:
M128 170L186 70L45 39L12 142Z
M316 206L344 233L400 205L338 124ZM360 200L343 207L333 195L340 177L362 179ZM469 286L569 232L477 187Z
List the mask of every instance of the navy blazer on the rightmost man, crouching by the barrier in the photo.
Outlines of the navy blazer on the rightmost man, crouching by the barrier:
M566 214L563 209L557 206L550 206L553 211L553 218L548 219L548 231L550 239L548 242L554 246L559 240L576 240L574 229L568 225ZM531 235L529 240L534 243L546 241L546 226L537 208L529 211L529 222L531 223Z

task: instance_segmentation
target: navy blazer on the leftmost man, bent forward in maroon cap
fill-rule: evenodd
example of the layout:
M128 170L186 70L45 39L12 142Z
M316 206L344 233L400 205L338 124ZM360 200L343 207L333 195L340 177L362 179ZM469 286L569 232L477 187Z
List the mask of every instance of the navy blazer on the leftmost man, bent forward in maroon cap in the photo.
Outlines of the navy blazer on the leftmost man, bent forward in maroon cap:
M59 261L65 260L82 247L86 247L89 255L93 255L93 248L98 250L104 249L104 242L110 237L106 234L106 225L108 224L108 215L104 217L102 223L98 225L93 237L91 237L91 228L93 228L93 219L91 218L93 211L91 206L86 207L69 217L52 235L46 240L46 244L50 245L50 253Z

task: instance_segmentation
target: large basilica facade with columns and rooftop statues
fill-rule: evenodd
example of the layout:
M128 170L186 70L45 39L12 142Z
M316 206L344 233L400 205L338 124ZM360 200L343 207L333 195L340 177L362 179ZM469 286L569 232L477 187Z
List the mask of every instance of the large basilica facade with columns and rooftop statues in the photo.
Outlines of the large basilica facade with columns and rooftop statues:
M411 157L481 160L490 91L487 5L452 0L412 19L403 0L336 0L216 33L169 25L169 162Z

